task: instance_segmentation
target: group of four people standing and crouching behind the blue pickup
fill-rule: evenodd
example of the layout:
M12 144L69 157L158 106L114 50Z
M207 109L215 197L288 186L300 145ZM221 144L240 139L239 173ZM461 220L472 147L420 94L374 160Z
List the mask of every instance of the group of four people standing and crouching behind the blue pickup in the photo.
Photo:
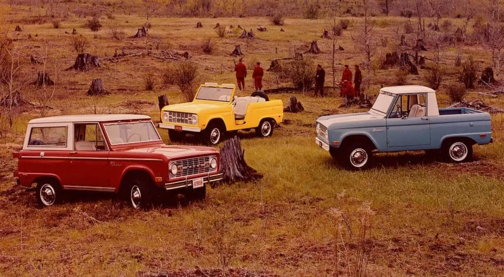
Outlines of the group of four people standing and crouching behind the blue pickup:
M360 72L359 65L355 64L355 78L353 79L352 85L352 71L350 70L348 64L345 64L343 70L343 75L340 81L340 96L346 97L348 100L354 97L360 96L360 84L362 83L362 73ZM315 73L315 97L320 93L324 96L324 82L326 78L326 72L322 68L322 65L317 64L317 72Z

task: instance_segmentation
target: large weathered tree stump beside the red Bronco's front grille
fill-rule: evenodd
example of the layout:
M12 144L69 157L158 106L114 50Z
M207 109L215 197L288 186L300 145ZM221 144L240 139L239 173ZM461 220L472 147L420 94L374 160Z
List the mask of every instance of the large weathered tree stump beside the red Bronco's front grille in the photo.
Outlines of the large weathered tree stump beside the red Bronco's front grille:
M239 138L235 135L224 142L220 152L220 169L223 182L258 180L263 177L257 170L247 165L244 159L245 151L241 149Z

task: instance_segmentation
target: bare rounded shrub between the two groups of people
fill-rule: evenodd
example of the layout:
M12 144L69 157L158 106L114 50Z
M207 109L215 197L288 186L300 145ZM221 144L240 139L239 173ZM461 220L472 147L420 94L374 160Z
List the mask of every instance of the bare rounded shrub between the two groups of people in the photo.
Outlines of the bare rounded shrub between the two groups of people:
M298 89L307 91L315 83L315 66L310 58L293 59L282 69L285 76Z

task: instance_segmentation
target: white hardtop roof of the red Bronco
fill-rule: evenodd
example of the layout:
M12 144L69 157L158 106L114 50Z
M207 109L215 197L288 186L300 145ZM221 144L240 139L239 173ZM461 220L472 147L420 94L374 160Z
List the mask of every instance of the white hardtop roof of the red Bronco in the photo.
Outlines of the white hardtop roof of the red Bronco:
M75 114L41 117L30 120L28 123L59 123L59 122L105 122L119 120L152 119L141 114Z

